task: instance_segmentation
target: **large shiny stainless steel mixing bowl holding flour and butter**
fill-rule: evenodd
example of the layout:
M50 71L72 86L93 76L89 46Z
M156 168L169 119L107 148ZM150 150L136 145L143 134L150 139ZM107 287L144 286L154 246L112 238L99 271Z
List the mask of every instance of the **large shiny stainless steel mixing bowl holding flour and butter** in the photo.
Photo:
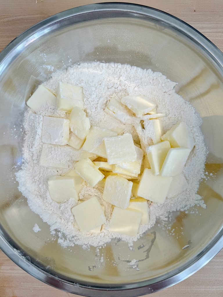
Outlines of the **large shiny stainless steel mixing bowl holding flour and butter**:
M149 230L129 250L62 248L18 191L21 123L27 94L54 71L85 61L115 61L160 71L200 113L209 150L199 194L207 209L178 212L174 232ZM223 54L202 34L164 12L134 4L93 4L54 15L25 31L0 55L0 247L21 268L54 287L87 296L139 296L173 285L223 247ZM16 129L16 130L15 130ZM213 175L210 175L213 174ZM192 211L193 212L193 211ZM42 231L34 233L37 223ZM183 232L183 234L182 234ZM188 248L182 249L189 245ZM100 262L100 258L104 258ZM139 270L127 260L139 259Z

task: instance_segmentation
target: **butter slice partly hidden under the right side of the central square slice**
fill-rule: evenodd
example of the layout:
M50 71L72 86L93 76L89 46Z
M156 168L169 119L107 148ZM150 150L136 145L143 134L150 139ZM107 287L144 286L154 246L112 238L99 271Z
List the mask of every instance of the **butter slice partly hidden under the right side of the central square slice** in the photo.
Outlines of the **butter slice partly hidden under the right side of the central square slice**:
M136 161L115 164L116 171L113 171L113 172L117 172L117 169L120 168L120 169L126 170L127 173L125 174L127 175L129 175L130 173L130 175L133 174L134 176L137 176L140 173L140 169L142 166L142 158L144 153L143 153L143 150L137 146L135 146L135 150L136 150Z

